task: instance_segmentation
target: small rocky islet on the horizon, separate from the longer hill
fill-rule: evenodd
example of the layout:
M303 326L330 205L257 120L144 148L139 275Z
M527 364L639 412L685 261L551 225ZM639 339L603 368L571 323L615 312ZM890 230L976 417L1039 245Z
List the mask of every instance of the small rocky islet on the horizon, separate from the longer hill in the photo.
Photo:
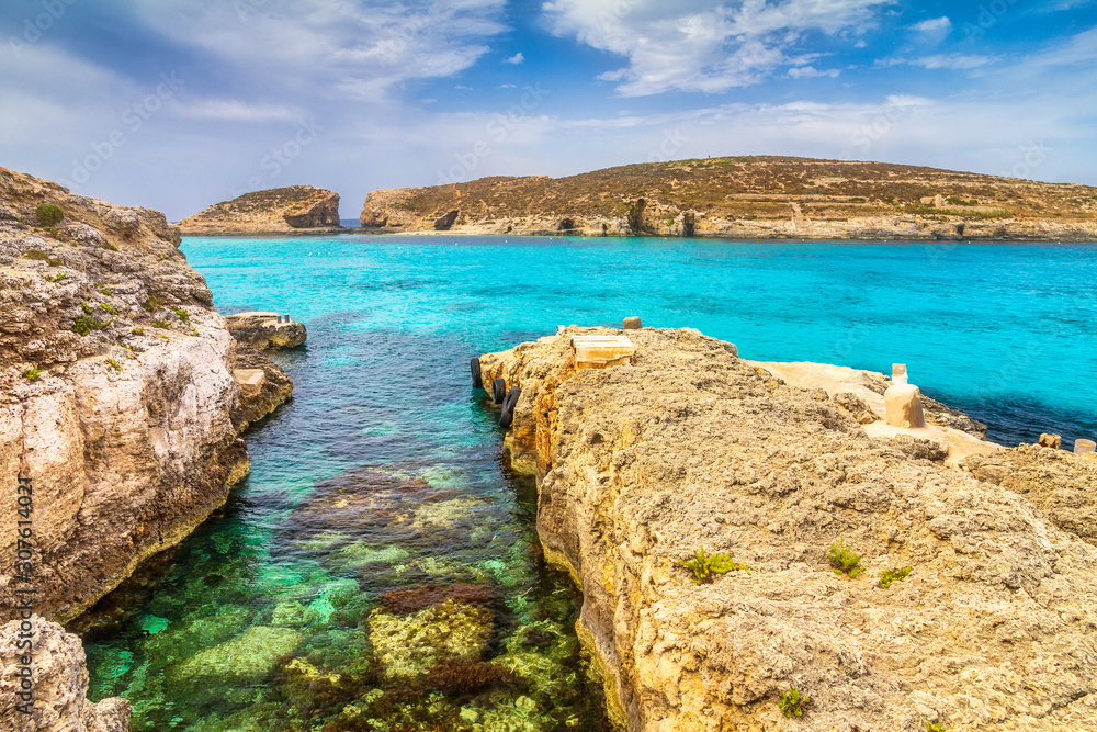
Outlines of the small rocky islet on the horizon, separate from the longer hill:
M179 222L184 236L338 229L339 194L312 185L253 191Z

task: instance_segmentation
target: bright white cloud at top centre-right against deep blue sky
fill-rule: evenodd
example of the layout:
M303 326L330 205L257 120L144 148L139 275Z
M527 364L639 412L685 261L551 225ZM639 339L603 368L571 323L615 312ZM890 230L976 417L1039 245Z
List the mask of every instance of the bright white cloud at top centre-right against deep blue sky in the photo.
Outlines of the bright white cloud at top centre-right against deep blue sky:
M858 34L891 0L740 0L713 8L704 0L669 7L655 0L551 0L543 11L553 32L624 56L627 64L599 78L623 97L671 90L723 92L803 67L795 54L810 31Z

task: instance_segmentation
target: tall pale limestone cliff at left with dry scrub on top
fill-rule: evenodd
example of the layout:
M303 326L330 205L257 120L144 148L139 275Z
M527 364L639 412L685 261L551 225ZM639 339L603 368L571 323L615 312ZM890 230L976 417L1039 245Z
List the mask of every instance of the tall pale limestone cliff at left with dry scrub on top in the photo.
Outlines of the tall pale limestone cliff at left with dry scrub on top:
M56 230L31 225L46 202ZM18 214L0 221L0 483L32 481L35 609L64 622L247 473L235 341L162 214L2 168L0 207ZM16 495L0 496L11 567ZM0 573L0 605L18 585Z

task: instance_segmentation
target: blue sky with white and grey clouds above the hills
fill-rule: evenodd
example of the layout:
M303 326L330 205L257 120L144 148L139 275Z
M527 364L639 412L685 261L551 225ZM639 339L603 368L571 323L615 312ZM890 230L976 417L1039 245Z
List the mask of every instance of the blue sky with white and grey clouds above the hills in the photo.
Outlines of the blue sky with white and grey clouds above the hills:
M1097 184L1097 0L0 0L0 166L170 221L727 155Z

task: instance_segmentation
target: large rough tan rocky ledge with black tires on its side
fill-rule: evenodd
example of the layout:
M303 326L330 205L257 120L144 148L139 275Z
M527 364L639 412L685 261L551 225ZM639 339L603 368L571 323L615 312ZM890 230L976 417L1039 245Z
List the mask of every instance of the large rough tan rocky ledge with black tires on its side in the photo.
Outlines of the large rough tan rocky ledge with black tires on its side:
M989 446L939 410L945 449L870 437L866 392L793 386L695 330L630 330L630 362L577 371L578 334L621 331L486 354L480 376L520 388L511 464L629 730L1097 718L1097 547L1072 510L1097 460ZM841 548L861 555L845 573ZM694 584L699 551L727 556Z

